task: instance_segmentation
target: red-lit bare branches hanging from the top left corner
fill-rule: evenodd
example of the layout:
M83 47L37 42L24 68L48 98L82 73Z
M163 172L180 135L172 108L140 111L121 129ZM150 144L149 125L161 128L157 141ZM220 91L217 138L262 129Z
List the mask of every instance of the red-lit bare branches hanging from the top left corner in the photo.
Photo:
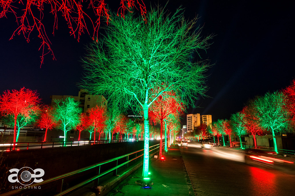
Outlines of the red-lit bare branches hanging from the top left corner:
M62 17L68 24L70 35L78 41L82 33L92 35L93 40L96 39L101 16L105 17L106 24L110 20L110 13L104 0L0 0L0 6L2 9L0 9L0 19L7 18L10 15L8 13L12 13L18 24L10 39L16 34L22 34L29 42L31 33L34 31L37 33L41 40L39 48L42 51L41 64L48 53L51 53L55 59L46 33L49 27L45 27L43 20L49 13L43 12L44 10L48 10L53 15L53 34L55 29L58 29L58 19ZM130 12L133 8L139 9L145 20L146 8L142 0L121 0L117 16L124 18L125 12Z

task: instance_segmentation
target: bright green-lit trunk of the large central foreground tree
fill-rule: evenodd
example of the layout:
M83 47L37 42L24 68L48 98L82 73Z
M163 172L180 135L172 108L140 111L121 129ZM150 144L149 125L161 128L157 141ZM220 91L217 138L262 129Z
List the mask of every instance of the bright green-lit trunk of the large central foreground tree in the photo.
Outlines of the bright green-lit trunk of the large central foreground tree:
M142 177L148 177L148 172L149 172L149 126L148 126L148 107L147 106L143 107L143 119L144 119L144 128L145 128L145 141L144 141L144 148L143 148Z

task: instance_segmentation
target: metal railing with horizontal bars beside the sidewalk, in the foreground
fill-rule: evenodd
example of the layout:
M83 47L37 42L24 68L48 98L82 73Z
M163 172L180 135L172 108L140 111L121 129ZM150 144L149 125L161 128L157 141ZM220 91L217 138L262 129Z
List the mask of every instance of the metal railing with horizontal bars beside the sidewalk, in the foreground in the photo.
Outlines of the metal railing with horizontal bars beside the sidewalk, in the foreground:
M162 146L164 146L164 144L165 144L165 142L163 142L163 145ZM151 152L152 153L156 153L159 150L158 148L160 148L160 144L150 146L149 147L149 153L151 153ZM96 163L94 165L90 165L88 167L81 168L79 170L68 172L66 174L63 174L63 175L59 175L59 176L50 178L50 179L44 180L44 181L39 182L39 183L32 184L30 186L31 187L39 187L39 186L42 186L42 185L48 185L50 183L53 183L53 182L57 182L58 181L59 184L58 184L58 187L57 187L57 192L58 192L57 195L64 195L64 194L66 194L68 192L71 192L71 191L73 191L75 189L81 188L81 187L89 184L92 181L94 181L94 183L95 183L94 186L97 187L98 186L98 183L99 183L99 177L102 177L102 176L104 176L104 175L106 175L106 174L108 174L110 172L114 172L113 175L117 175L117 169L119 167L122 167L124 165L127 165L127 167L128 167L128 164L131 161L136 160L138 158L141 158L142 155L143 155L143 150L144 149L137 150L135 152L128 153L126 155L122 155L122 156L119 156L119 157L116 157L116 158L112 158L112 159L109 159L109 160L106 160L106 161L103 161L103 162L100 162L100 163ZM118 160L120 160L122 158L126 158L126 161L118 165ZM112 162L116 162L116 166L115 167L107 168L106 171L104 171L104 172L101 172L100 171L102 165L105 165L105 164L108 164L108 163L112 163ZM72 186L72 187L70 187L70 188L68 188L66 190L62 190L63 180L65 178L73 177L74 175L78 175L78 174L81 175L83 172L89 172L89 170L95 170L97 172L97 175L94 176L94 177L91 177L91 178L89 178L87 180L84 180L83 182L80 182L80 183L78 183L78 184L76 184L76 185L74 185L74 186ZM13 191L4 193L1 196L20 195L20 194L29 192L31 190L32 189L27 189L27 188L24 188L23 187L22 189L17 189L17 190L13 190Z

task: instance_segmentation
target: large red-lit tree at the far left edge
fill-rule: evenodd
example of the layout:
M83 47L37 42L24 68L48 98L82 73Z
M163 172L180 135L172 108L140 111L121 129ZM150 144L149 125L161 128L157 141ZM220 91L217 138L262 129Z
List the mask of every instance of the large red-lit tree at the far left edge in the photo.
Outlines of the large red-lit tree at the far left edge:
M19 91L5 91L0 96L0 110L2 115L12 115L14 117L14 135L13 146L16 142L16 124L17 117L22 115L30 118L31 111L38 110L38 103L40 99L36 91L30 89L21 88ZM15 148L13 148L14 150Z

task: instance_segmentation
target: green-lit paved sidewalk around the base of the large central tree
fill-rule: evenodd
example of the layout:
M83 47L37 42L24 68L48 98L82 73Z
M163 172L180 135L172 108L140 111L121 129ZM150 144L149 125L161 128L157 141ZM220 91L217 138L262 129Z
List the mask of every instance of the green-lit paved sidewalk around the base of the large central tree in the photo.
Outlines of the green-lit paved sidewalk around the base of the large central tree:
M136 184L142 176L142 167L140 167L107 195L195 195L179 146L171 146L168 152L168 154L163 154L165 161L150 159L149 169L153 182L151 188L144 189Z

